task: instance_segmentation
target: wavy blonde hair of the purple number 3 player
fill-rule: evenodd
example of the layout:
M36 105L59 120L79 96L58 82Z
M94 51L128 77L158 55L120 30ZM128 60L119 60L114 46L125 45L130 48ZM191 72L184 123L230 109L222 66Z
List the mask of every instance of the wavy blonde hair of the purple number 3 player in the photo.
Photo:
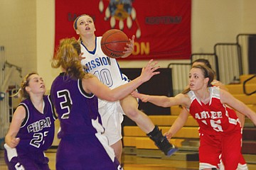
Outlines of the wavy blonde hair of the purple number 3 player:
M75 38L62 39L51 66L53 68L62 67L71 78L89 78L90 76L85 73L85 67L82 67L79 60L80 53L80 43Z

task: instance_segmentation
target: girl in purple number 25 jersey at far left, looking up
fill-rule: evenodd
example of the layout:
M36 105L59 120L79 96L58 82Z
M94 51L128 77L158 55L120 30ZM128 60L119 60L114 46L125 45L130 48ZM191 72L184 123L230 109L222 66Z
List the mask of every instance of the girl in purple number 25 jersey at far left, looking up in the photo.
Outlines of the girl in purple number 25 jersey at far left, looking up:
M55 116L42 77L27 74L17 95L21 103L16 108L5 137L5 161L9 169L48 170L49 159L44 151L54 138Z

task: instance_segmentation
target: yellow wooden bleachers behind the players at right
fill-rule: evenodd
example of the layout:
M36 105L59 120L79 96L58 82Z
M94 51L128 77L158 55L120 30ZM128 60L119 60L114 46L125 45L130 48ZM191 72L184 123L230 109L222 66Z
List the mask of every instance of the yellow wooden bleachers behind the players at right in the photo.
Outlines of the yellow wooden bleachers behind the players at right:
M235 98L244 102L253 111L256 112L256 94L250 96L243 93L243 82L253 75L242 75L239 84L228 84L226 87ZM252 79L245 84L247 91L255 91L256 79ZM170 108L170 115L149 115L149 118L163 133L167 132L174 120L178 117L181 108L172 106ZM171 157L166 157L155 145L154 142L146 137L146 134L139 129L139 127L127 125L124 126L124 153L137 154L139 157L157 157L161 159L174 159L195 161L198 160L198 123L190 115L186 124L179 130L170 142L179 148ZM245 118L245 127L242 135L242 154L244 155L248 164L256 164L256 128L250 119Z

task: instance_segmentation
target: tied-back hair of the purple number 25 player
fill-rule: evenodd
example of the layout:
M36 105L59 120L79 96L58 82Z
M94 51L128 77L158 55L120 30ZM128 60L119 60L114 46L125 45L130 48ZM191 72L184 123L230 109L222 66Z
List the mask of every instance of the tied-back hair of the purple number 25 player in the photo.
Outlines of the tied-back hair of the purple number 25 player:
M26 98L30 98L28 92L26 91L26 86L29 85L29 81L31 80L30 77L33 74L37 74L36 72L31 72L29 74L26 74L26 76L21 81L21 88L18 89L18 92L11 97L18 96L18 98L21 99L21 101L25 100ZM38 75L38 74L37 74Z

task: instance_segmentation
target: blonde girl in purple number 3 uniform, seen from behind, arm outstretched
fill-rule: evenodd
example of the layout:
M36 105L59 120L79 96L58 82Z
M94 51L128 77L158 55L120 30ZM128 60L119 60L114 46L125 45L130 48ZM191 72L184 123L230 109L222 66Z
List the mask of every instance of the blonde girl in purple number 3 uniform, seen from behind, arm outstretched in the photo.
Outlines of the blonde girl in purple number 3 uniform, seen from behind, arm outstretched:
M104 134L96 96L107 101L124 98L159 74L154 72L159 67L150 60L137 79L109 89L97 77L84 72L81 55L80 43L75 38L67 38L60 41L52 62L54 68L62 70L50 89L61 129L56 169L122 169Z

